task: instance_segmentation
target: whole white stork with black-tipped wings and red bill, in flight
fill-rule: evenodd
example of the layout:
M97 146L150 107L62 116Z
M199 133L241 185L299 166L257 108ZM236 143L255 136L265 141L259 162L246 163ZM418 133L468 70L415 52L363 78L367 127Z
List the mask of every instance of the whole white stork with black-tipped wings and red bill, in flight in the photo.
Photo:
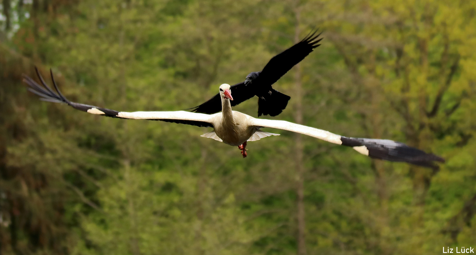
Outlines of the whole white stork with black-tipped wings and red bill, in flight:
M433 169L438 167L433 161L445 162L445 160L439 156L409 147L401 142L382 139L345 137L325 130L290 123L287 121L257 119L244 113L232 111L230 100L233 101L233 96L231 95L231 87L228 84L220 85L219 95L222 107L221 113L204 114L190 113L185 111L129 113L71 102L66 99L63 94L61 94L53 78L53 73L51 70L51 80L56 93L53 92L53 90L50 89L48 85L46 85L38 69L36 69L36 72L43 86L38 85L33 79L26 75L24 76L23 81L30 86L29 90L32 93L39 95L40 99L43 101L66 103L83 112L114 118L136 120L145 119L182 123L199 127L212 127L213 131L203 134L202 136L212 138L229 145L238 146L238 148L241 150L243 158L247 156L246 145L248 141L257 141L267 136L278 135L261 131L261 128L270 127L305 134L327 142L350 146L361 154L375 159L387 161L404 161Z

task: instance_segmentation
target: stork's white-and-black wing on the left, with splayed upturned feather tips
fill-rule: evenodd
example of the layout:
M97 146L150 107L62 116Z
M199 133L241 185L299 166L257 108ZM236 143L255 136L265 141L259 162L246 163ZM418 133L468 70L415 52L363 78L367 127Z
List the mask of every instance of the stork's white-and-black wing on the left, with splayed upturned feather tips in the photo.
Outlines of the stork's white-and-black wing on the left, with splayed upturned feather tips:
M176 112L119 112L116 110L101 108L98 106L88 105L88 104L79 104L71 102L66 97L61 94L58 89L58 85L53 77L53 73L50 70L51 80L53 82L56 93L46 85L45 80L40 75L40 72L35 67L38 78L40 78L41 85L36 83L29 76L24 75L23 81L30 86L28 90L32 93L40 96L40 100L54 102L54 103L65 103L72 106L75 109L78 109L83 112L99 114L103 116L113 117L113 118L122 118L122 119L145 119L145 120L154 120L154 121L165 121L165 122L174 122L181 124L194 125L199 127L213 127L211 124L212 115L203 114L203 113L190 113L185 111L176 111Z

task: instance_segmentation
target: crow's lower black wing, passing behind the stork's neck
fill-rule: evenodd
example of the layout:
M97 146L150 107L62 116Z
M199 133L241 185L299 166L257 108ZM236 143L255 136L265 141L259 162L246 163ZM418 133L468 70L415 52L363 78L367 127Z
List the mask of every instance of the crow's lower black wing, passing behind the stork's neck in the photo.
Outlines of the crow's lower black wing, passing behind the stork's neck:
M240 104L255 95L255 92L251 89L252 86L245 85L244 82L232 85L230 87L231 96L233 97L233 101L230 101L231 106L235 106ZM217 93L212 98L210 98L207 102L200 104L198 106L192 107L193 113L218 113L221 112L221 98L220 93ZM186 109L186 110L190 110Z

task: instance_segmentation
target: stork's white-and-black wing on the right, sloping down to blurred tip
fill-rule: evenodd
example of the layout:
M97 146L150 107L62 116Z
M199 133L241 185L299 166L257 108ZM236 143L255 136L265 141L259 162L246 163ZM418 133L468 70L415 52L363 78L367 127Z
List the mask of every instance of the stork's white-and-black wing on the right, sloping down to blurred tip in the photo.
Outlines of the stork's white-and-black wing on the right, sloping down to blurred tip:
M278 128L309 135L327 142L350 146L354 148L354 150L374 159L408 162L414 165L433 169L438 168L438 166L433 161L445 162L442 157L436 156L435 154L426 153L425 151L410 147L402 142L383 139L345 137L325 130L299 125L296 123L290 123L287 121L263 120L256 118L251 118L250 121L252 125L258 127Z

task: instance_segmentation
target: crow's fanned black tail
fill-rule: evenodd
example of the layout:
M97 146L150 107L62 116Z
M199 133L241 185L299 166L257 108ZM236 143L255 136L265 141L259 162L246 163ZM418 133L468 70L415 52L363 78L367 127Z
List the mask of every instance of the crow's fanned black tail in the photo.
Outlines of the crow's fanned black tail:
M290 98L290 96L275 89L269 90L268 93L258 99L258 117L261 115L278 115L286 108Z

